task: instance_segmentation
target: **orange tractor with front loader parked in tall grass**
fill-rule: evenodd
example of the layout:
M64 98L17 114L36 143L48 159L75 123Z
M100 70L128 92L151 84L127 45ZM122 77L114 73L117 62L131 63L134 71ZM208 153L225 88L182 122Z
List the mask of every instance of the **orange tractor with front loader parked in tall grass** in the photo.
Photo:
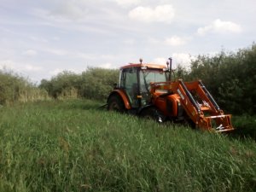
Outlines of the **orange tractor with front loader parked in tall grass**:
M218 107L201 80L171 81L167 66L131 63L120 68L119 83L108 96L108 110L134 113L159 122L186 121L207 131L232 131L230 114ZM170 65L170 67L169 67Z

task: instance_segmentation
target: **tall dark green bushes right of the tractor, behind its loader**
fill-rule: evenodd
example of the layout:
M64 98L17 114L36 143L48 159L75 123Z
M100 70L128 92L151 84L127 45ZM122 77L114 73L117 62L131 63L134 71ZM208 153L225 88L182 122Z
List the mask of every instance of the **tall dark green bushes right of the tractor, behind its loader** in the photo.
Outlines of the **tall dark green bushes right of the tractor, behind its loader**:
M221 108L230 113L256 113L256 44L236 53L199 55L185 79L201 79Z

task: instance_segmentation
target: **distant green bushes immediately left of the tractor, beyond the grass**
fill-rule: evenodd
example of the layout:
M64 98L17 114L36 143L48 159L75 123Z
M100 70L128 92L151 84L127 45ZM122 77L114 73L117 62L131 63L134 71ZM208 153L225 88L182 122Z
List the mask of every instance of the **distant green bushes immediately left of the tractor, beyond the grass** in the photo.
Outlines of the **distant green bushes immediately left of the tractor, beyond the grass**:
M50 80L43 79L39 87L48 90L54 98L104 100L118 81L118 75L119 70L89 67L82 74L65 71Z

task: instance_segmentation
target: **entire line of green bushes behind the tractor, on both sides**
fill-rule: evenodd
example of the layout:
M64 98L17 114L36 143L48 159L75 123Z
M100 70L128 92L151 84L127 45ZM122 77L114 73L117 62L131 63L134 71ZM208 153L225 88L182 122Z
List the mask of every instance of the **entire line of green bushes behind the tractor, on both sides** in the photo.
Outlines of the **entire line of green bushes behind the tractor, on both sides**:
M174 58L175 59L175 58ZM0 70L0 104L42 99L87 98L105 101L118 82L118 69L88 67L78 74L58 73L32 84L15 73ZM236 52L198 55L189 68L178 65L176 79L201 79L219 106L229 113L256 113L256 44Z

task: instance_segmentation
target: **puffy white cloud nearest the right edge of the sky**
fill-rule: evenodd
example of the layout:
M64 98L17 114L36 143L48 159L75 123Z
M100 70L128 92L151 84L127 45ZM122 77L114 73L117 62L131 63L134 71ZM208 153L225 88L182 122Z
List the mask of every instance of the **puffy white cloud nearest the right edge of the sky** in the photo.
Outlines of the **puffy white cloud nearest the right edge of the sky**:
M241 32L241 26L231 22L223 20L213 20L208 26L203 26L197 29L199 35L206 35L207 33L239 33Z

